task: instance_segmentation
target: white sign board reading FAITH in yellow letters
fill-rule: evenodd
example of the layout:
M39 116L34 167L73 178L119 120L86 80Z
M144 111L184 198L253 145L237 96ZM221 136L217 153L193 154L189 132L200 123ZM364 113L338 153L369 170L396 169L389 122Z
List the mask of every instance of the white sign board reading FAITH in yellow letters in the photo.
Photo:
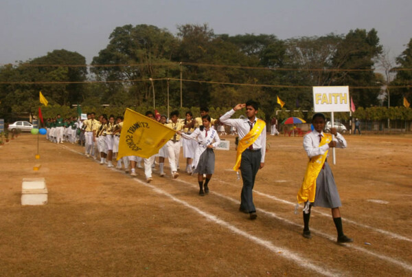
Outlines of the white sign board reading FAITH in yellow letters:
M349 87L313 87L315 112L350 111Z

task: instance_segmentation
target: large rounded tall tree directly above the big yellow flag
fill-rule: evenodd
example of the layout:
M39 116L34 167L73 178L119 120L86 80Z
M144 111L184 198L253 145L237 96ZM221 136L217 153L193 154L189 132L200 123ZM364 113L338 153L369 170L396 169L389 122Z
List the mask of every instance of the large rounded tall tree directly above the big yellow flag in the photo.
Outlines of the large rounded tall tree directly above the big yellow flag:
M98 80L124 80L125 82L108 82L104 99L108 103L117 101L118 93L128 93L132 104L152 101L152 83L137 80L149 78L166 78L173 74L167 63L173 60L178 45L176 38L166 29L153 25L124 25L116 27L109 36L110 42L105 49L93 58L92 71ZM114 65L98 67L98 65ZM133 66L117 66L133 65ZM154 82L157 100L164 102L165 85Z

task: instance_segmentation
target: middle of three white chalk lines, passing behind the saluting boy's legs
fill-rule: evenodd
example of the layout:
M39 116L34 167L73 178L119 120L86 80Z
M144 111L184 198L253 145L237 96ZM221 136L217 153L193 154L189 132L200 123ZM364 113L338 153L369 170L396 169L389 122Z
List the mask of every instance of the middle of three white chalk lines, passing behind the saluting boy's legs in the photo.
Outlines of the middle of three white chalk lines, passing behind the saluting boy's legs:
M194 186L194 187L197 187L196 185L193 185L193 184L191 184L191 183L189 183L189 182L187 182L187 181L183 181L183 180L181 180L181 179L180 179L180 180L174 180L174 181L179 181L179 182L182 182L182 183L184 183L184 184L189 184L189 185L192 185L192 186ZM254 191L254 190L253 190L253 191ZM209 192L209 193L213 193L214 195L217 195L218 197L222 197L222 198L224 198L224 199L227 199L227 200L229 200L229 201L232 201L233 203L240 204L240 201L238 201L238 200L236 200L236 199L233 199L233 198L231 198L231 197L227 197L227 196L225 196L225 195L220 195L220 193L218 193L218 192L211 191L211 192ZM294 226L297 226L297 227L302 227L301 224L295 223L295 222L290 221L290 220L288 220L288 219L285 219L285 218L283 218L283 217L279 217L279 216L278 216L277 214L275 214L274 212L268 212L268 211L262 210L262 209L260 209L260 208L257 208L256 211L262 212L262 213L268 215L269 217L273 217L273 218L275 218L275 219L277 219L277 220L279 220L279 221L283 221L283 222L288 223L288 224L290 224L290 225L294 225ZM329 216L329 217L330 217L330 216ZM314 233L314 234L318 234L318 235L320 235L320 236L323 236L324 238L329 239L330 241L336 242L336 236L331 236L330 234L326 234L326 233L323 233L323 232L321 232L321 231L319 231L319 230L312 229L312 228L310 229L310 232L312 232L312 233ZM345 245L342 245L342 246L352 247L352 248L358 250L359 252L363 252L363 253L369 254L369 255L371 255L371 256L375 256L376 258L380 258L380 259L382 259L382 260L384 260L384 261L387 261L387 262L389 262L389 263L393 263L393 264L395 264L395 265L399 265L400 267L403 267L404 269L407 269L407 270L409 270L409 271L412 272L412 265L409 265L408 263L404 263L403 261L398 261L398 260L396 260L396 259L394 259L394 258L385 256L385 255L376 254L376 253L374 253L374 252L371 252L371 251L369 251L369 250L366 250L365 248L358 247L358 246L356 246L356 245L354 245L354 244L345 244Z

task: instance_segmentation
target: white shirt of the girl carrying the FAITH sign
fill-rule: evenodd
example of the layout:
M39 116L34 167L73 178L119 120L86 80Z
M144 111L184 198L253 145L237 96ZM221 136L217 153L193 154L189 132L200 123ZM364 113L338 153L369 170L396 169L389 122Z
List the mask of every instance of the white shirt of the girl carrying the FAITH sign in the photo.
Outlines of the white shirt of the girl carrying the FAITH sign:
M323 137L323 132L318 133L318 131L313 130L304 137L304 149L310 158L317 155L323 155L329 150L329 144L323 144L319 147L319 135L322 135ZM346 148L347 146L345 138L340 133L335 135L334 141L336 142L337 148Z

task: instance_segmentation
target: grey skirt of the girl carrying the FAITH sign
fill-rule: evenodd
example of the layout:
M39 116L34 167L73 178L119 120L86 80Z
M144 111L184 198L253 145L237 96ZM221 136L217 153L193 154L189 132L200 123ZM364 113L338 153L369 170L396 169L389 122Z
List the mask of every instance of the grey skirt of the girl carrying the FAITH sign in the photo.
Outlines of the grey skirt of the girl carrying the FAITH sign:
M338 208L342 206L341 197L339 197L338 188L336 188L328 162L325 162L325 168L321 169L316 179L316 195L314 195L313 206L323 208Z

